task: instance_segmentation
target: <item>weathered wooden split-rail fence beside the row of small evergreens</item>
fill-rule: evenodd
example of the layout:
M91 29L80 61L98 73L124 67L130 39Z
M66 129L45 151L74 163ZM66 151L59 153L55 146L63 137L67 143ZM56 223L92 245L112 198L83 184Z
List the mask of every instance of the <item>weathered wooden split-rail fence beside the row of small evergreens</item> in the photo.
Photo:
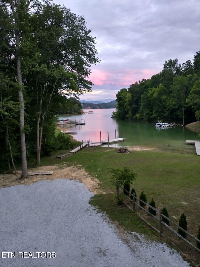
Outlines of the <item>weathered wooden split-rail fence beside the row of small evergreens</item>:
M122 190L121 190L122 189ZM152 207L151 205L149 205L148 203L144 202L143 200L139 199L138 197L135 196L135 193L131 194L130 192L128 192L126 189L124 189L123 187L121 187L120 185L116 185L116 191L117 191L117 196L119 197L120 193L127 192L128 195L124 194L128 199L130 199L130 201L132 202L132 207L130 207L128 204L126 204L128 206L129 209L132 209L134 212L136 212L136 206L138 206L140 209L142 209L144 212L148 213L150 216L152 216L155 220L157 220L159 222L159 229L157 229L156 227L154 227L152 224L150 224L147 220L145 220L141 215L138 214L138 216L145 221L149 226L151 226L156 232L158 232L160 235L164 235L163 234L163 226L165 226L167 229L169 229L170 231L172 231L174 234L176 234L178 237L180 237L181 239L183 239L187 244L191 245L194 249L196 249L198 252L200 252L200 249L197 248L196 245L192 244L191 242L195 243L195 242L199 242L200 240L197 239L195 236L193 236L192 234L188 233L187 231L185 231L182 227L180 227L178 224L176 224L175 222L173 222L171 219L169 219L168 217L166 217L164 214L162 214L162 210L158 210L155 209L154 207ZM129 197L129 196L133 196L133 200ZM151 214L147 209L144 209L140 204L137 203L138 202L142 202L144 203L146 206L150 207L151 209L155 210L158 214L158 216L154 216L153 214ZM176 230L174 230L172 227L170 227L168 224L163 222L163 218L167 219L169 221L169 224L176 226L178 229L181 229L183 232L185 232L187 234L187 236L189 236L191 238L191 242L188 241L187 239L185 239L182 235L178 234L178 232Z

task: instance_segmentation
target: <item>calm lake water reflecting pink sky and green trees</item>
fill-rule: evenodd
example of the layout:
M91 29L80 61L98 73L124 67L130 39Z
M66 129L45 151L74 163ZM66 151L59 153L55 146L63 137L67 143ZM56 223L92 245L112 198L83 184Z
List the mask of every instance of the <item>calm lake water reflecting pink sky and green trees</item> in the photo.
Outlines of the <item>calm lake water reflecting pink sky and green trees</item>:
M59 120L68 118L71 121L85 122L85 125L65 126L65 131L77 132L74 139L87 142L125 138L126 141L118 144L109 144L110 147L122 146L143 146L153 148L170 149L194 149L191 145L186 145L186 140L198 140L198 134L182 126L175 126L168 129L157 129L155 123L141 123L132 121L122 121L111 118L115 109L94 109L92 114L89 110L82 115L63 115ZM101 134L100 134L101 133Z

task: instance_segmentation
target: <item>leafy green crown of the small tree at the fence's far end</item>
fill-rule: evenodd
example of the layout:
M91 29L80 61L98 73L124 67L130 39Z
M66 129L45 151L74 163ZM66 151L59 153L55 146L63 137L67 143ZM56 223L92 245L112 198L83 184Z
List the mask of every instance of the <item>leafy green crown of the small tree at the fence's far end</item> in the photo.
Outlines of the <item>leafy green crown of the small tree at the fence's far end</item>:
M125 182L131 184L135 179L137 174L133 172L130 167L123 167L123 169L108 168L108 173L112 173L110 177L111 184L123 186ZM130 190L130 189L129 189Z

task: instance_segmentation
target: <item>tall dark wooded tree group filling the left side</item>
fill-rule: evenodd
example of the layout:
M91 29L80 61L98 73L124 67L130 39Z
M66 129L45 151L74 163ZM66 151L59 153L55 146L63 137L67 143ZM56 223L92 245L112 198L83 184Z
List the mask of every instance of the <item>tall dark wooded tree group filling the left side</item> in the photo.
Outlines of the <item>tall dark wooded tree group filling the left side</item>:
M71 145L55 136L55 114L80 112L96 40L82 16L50 0L0 1L0 25L0 172L21 165L27 178L27 159L39 165Z

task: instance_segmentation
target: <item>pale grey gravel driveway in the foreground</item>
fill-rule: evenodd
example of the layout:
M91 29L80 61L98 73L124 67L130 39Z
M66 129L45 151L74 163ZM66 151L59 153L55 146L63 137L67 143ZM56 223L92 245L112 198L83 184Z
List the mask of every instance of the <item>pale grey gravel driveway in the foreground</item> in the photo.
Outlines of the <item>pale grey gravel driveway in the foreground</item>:
M88 204L92 196L68 179L0 189L0 267L190 266L175 250L135 233L130 248Z

